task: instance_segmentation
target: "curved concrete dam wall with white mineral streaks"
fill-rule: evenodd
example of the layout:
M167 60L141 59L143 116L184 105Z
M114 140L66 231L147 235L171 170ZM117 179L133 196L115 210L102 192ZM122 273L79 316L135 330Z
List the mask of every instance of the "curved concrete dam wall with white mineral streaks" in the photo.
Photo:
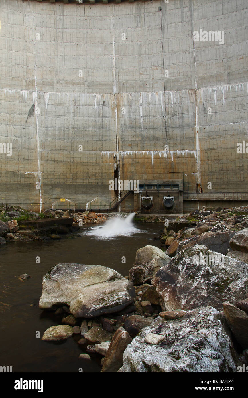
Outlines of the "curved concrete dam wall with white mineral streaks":
M246 2L104 3L0 0L0 202L104 209L117 178L248 203Z

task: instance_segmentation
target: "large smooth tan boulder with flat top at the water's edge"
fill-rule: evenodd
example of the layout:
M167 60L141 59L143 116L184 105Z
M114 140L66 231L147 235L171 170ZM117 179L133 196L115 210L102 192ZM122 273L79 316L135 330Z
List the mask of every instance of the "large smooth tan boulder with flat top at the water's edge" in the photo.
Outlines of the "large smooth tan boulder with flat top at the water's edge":
M76 317L118 312L133 303L133 284L101 265L60 263L43 277L39 308L53 310L68 304Z

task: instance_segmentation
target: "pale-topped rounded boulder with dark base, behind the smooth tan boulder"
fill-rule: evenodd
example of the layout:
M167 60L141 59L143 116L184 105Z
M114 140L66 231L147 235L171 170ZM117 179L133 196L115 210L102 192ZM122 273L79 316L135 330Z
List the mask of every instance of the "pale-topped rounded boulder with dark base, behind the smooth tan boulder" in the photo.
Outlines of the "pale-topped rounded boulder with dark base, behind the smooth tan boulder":
M135 263L129 271L129 281L134 285L145 283L169 261L170 257L156 246L145 246L136 252Z

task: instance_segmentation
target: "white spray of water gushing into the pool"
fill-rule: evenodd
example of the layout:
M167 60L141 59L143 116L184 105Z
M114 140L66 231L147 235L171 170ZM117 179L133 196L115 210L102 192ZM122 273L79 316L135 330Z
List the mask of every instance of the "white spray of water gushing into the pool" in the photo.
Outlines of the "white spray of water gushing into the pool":
M131 213L125 219L114 217L105 222L101 227L87 229L84 235L96 236L98 239L112 239L116 236L131 236L140 230L133 225L136 213Z

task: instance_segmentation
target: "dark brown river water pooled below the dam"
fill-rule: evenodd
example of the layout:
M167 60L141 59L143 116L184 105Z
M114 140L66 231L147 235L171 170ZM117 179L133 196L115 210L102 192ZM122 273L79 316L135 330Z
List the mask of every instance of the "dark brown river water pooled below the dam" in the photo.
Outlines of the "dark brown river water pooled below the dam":
M123 220L121 220L123 221ZM113 222L113 220L111 220ZM99 226L103 226L98 231ZM154 240L163 231L163 224L129 225L106 236L104 224L83 226L80 231L61 240L13 242L0 246L0 365L12 366L13 372L100 372L101 355L91 355L92 361L78 359L85 346L74 335L63 342L41 341L43 332L60 324L53 312L42 312L38 303L42 291L42 277L57 263L104 265L123 276L133 266L136 251L148 244L160 248ZM104 229L105 228L105 229ZM112 227L111 227L112 228ZM125 229L125 228L124 228ZM106 232L106 233L105 233ZM110 233L111 235L111 233ZM36 263L39 256L40 263ZM123 256L126 262L123 263ZM31 278L20 281L28 273ZM36 335L40 334L40 338Z

